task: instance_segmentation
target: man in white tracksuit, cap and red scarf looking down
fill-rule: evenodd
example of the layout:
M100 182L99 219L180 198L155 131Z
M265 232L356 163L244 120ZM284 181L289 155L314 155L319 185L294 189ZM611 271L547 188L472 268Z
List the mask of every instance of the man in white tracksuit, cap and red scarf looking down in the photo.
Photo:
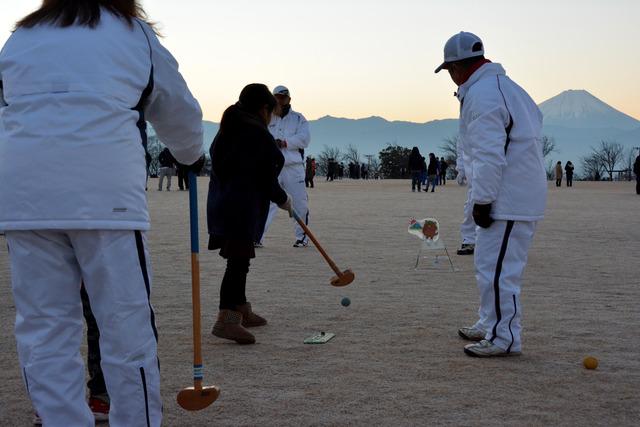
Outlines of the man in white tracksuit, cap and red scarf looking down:
M447 41L436 73L442 69L458 85L460 137L469 153L478 226L474 261L482 334L471 337L481 341L464 351L476 357L518 355L522 276L547 195L542 114L500 64L484 58L484 45L474 34L461 32Z

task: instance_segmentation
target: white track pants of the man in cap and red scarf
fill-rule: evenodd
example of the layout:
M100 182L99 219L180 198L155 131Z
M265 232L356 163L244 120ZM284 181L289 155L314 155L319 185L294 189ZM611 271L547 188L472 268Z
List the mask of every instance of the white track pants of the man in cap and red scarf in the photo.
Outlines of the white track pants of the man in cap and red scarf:
M477 230L475 265L480 312L486 313L486 339L507 351L520 351L520 287L535 222L496 221ZM482 319L481 319L482 320Z

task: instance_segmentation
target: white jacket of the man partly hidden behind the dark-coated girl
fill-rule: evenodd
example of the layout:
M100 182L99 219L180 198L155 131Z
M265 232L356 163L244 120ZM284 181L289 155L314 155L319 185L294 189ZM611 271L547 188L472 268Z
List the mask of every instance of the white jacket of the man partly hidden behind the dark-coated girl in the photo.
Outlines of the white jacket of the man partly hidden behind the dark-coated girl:
M284 165L302 165L304 155L300 150L305 150L311 142L307 119L293 110L289 110L289 114L284 118L274 114L269 123L269 131L275 139L287 141L287 148L281 149Z

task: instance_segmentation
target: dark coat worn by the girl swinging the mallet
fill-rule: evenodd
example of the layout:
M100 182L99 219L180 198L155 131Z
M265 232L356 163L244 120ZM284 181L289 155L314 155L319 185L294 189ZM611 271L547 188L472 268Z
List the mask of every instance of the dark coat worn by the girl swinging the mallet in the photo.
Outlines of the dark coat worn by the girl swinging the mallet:
M278 183L284 157L257 116L237 106L225 116L209 151L209 234L256 242L264 231L269 203L287 200Z

